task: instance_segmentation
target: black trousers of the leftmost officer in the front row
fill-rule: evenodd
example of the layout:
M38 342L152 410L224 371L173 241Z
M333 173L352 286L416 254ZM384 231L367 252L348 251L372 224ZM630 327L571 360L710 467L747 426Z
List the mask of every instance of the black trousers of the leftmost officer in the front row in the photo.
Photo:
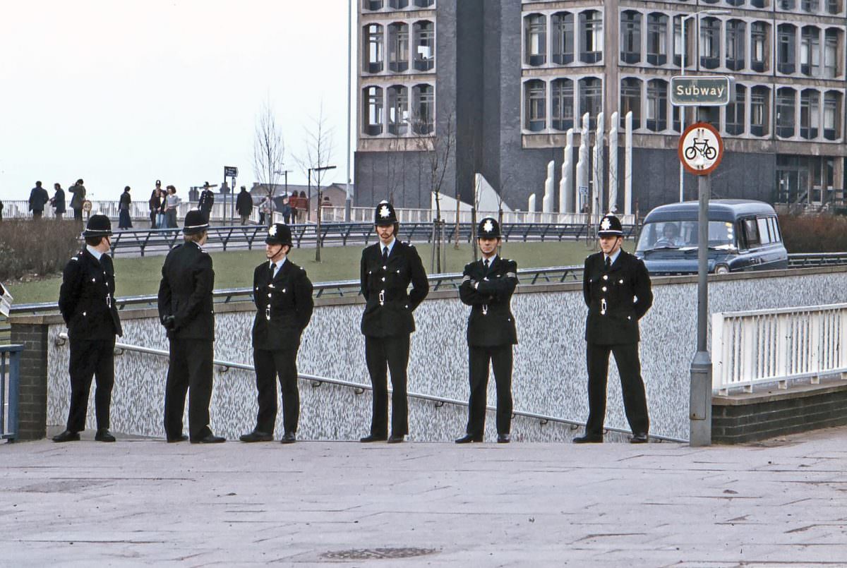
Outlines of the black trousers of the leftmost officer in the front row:
M114 338L70 340L70 411L68 429L81 432L86 429L88 393L91 378L97 378L94 408L97 412L97 429L109 427L109 405L112 404L114 385Z

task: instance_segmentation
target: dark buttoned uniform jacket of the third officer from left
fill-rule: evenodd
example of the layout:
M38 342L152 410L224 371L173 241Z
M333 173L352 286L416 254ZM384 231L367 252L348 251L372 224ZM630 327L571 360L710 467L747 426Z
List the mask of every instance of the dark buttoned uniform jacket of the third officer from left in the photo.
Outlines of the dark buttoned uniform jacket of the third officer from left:
M253 349L296 349L314 307L306 271L286 259L271 280L270 263L263 262L253 273L253 299Z

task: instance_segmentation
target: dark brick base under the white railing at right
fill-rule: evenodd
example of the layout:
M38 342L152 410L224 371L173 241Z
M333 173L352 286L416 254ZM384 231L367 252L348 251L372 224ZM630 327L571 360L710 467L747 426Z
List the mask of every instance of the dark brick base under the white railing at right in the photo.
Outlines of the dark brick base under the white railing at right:
M847 424L847 381L713 396L711 441L741 444Z

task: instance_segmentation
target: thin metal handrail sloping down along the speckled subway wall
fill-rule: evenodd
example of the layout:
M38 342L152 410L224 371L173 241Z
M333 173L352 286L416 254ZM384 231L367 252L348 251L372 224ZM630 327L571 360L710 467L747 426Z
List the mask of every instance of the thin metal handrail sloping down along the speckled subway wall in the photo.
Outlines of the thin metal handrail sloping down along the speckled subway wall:
M68 334L60 333L58 334L58 339L61 341L56 342L57 345L64 345L68 340ZM130 345L126 343L116 342L114 344L114 348L117 354L120 354L123 351L136 351L138 353L145 353L147 355L160 356L160 357L169 357L169 352L161 349L152 349L150 347L141 347L139 345ZM224 370L222 372L227 372L230 369L241 369L242 371L255 371L255 367L252 365L246 365L245 363L235 363L233 361L220 361L219 359L214 359L212 361L215 367L222 367ZM327 384L335 384L340 387L348 387L354 389L356 394L362 394L365 390L373 390L373 387L369 384L365 383L354 383L352 381L345 381L339 378L329 378L329 377L319 377L318 375L310 375L304 372L298 372L297 378L304 382L311 382L312 386L317 388L322 383ZM389 387L388 392L392 392L392 389ZM445 396L436 396L435 394L423 394L423 393L414 393L412 391L407 392L407 396L412 399L418 400L429 400L430 402L435 402L436 406L441 405L459 405L459 406L468 406L468 403L464 400L457 400L447 398ZM486 410L496 411L495 406L487 405L485 406ZM572 427L585 427L585 422L579 422L576 420L569 420L567 418L560 418L558 416L546 416L544 414L537 414L535 412L528 411L512 411L512 416L523 416L526 418L533 418L535 420L539 420L542 424L546 424L547 422L557 422L560 424L568 424ZM623 428L612 428L606 427L604 428L605 432L616 432L628 434L631 433L628 430L624 430ZM671 438L669 436L661 436L657 434L650 434L650 438L654 438L656 440L662 442L678 442L680 444L688 443L688 440L679 439L679 438Z

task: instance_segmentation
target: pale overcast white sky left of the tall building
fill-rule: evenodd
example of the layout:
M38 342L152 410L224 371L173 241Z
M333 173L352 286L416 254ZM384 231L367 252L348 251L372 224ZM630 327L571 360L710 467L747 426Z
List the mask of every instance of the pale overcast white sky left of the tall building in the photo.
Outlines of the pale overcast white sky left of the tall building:
M249 187L265 99L290 183L306 183L294 157L323 102L343 183L346 2L2 0L0 199L78 178L93 199L147 199L156 179L185 196L224 165Z

